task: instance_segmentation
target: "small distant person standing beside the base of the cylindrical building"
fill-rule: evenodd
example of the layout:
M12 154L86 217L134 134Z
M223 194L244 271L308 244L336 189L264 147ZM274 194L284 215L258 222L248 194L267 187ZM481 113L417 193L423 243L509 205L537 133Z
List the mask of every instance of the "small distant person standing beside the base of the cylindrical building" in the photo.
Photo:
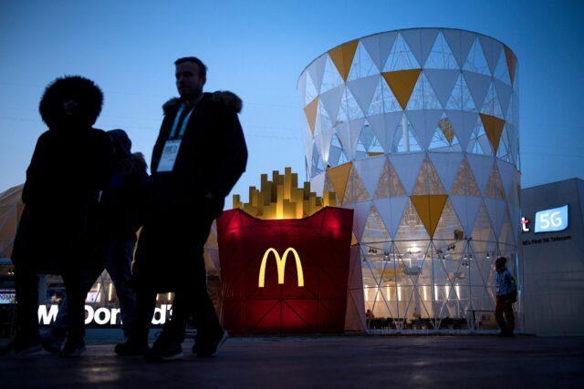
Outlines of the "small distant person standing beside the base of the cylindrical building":
M513 303L517 301L517 285L515 278L506 268L506 261L505 257L498 257L495 261L495 318L501 329L499 335L512 337L515 330Z

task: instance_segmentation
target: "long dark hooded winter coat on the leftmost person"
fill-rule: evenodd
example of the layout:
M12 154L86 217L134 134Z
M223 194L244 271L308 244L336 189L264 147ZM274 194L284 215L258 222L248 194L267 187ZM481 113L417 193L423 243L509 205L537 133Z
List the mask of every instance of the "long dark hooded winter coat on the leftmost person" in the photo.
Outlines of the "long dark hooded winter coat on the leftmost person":
M78 101L78 115L62 103ZM104 131L92 128L101 111L99 87L83 77L57 78L41 98L48 130L36 142L22 200L12 260L37 272L62 273L92 255L99 191L110 178L113 154Z

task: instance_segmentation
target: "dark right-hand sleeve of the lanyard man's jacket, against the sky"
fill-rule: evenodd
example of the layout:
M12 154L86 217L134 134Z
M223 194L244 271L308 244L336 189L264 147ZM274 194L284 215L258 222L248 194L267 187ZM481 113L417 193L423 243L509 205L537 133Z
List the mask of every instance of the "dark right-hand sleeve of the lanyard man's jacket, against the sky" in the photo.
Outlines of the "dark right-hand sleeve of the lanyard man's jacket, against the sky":
M234 188L235 183L245 172L247 147L244 131L235 110L219 110L218 141L222 148L222 158L217 160L215 174L210 178L208 191L215 198L224 198Z

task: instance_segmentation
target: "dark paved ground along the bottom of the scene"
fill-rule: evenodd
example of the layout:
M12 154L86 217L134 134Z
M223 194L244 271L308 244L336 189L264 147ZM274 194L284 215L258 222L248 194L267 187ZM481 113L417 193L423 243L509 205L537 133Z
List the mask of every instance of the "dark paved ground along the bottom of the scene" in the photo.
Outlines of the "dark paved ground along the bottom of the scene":
M12 388L564 388L584 387L584 338L323 336L230 338L213 359L184 343L185 359L119 357L89 340L71 360L48 353L0 357Z

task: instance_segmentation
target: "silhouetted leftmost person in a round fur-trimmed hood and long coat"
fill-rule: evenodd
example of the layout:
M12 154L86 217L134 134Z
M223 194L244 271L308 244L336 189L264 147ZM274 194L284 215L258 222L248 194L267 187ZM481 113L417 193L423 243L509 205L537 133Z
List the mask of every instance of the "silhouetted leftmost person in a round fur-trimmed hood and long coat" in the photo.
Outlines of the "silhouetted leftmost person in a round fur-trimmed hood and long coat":
M61 355L83 353L82 270L96 261L99 191L110 178L110 139L92 128L103 95L84 77L57 78L45 90L40 115L48 126L36 142L22 200L12 261L16 277L16 338L0 353L29 353L41 347L37 273L60 274L68 294L68 339Z

